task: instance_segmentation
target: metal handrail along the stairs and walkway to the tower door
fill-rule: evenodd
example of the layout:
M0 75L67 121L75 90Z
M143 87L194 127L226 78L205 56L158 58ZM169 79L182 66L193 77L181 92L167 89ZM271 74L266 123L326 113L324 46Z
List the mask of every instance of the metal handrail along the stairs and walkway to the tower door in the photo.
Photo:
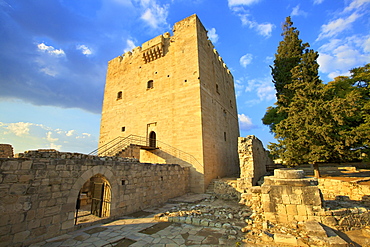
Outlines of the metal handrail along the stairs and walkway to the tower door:
M89 155L115 156L130 145L150 146L149 143L150 143L150 139L147 137L143 137L143 136L138 136L138 135L128 135L126 137L119 136L107 142L103 146L95 149L94 151L90 152ZM160 144L159 147L158 147L158 144ZM199 167L203 167L203 165L192 154L184 152L178 148L175 148L159 140L156 140L155 148L159 148L162 151L174 157L177 157L189 164L198 165Z

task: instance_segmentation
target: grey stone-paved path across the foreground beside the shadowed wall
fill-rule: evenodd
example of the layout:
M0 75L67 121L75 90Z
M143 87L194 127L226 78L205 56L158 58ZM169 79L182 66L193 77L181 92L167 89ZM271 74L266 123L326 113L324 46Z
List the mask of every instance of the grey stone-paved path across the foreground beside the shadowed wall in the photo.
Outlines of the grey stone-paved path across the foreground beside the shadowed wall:
M181 223L158 222L154 215L174 204L146 210L150 215L123 217L106 224L97 224L73 231L31 247L59 246L237 246L228 240L226 229Z

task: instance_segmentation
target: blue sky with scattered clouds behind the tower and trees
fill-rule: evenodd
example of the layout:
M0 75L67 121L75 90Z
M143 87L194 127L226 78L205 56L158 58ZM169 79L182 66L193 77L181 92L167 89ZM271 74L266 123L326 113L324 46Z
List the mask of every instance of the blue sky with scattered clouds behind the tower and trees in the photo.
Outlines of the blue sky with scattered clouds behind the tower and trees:
M233 73L240 135L265 146L287 16L319 52L324 82L370 62L370 0L0 0L0 143L95 149L107 62L194 13Z

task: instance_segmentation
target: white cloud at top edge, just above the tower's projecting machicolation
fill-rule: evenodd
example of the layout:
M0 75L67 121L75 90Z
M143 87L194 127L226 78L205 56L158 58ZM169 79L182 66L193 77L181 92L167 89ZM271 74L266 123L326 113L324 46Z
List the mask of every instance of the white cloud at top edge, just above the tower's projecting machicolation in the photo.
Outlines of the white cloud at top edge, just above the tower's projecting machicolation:
M160 26L168 26L167 16L168 16L168 4L159 5L156 0L141 0L141 6L143 7L143 14L141 19L143 19L149 26L154 29Z

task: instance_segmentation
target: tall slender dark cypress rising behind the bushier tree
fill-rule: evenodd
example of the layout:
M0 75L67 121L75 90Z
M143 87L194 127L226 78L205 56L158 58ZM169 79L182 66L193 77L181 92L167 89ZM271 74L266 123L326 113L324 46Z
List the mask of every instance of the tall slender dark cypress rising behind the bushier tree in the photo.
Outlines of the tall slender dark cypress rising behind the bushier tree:
M272 132L274 132L275 125L287 117L286 112L280 108L288 106L294 94L287 87L287 85L292 83L291 70L300 63L304 49L309 47L308 43L303 44L302 40L299 39L299 31L293 27L290 16L285 20L282 36L283 40L279 43L277 53L275 54L274 65L270 66L277 102L275 106L267 109L266 114L262 118L263 124L269 125Z

